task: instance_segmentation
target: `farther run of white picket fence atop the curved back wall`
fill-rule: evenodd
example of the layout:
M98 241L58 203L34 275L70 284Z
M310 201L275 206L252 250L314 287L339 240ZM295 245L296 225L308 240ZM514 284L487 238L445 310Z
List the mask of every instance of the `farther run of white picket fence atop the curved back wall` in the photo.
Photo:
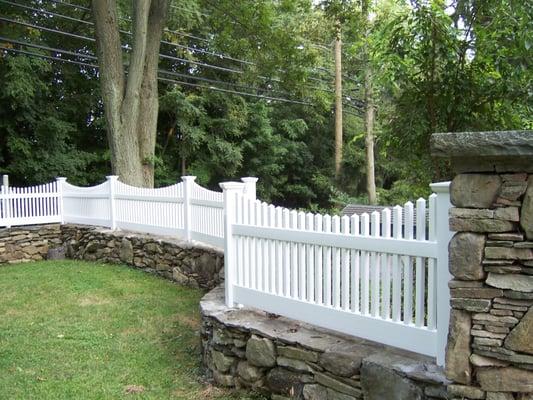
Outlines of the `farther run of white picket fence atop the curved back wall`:
M171 186L147 189L108 176L100 185L79 187L65 178L0 191L0 226L75 223L170 235L224 246L221 192L205 189L194 176ZM242 195L255 199L256 178L243 178Z

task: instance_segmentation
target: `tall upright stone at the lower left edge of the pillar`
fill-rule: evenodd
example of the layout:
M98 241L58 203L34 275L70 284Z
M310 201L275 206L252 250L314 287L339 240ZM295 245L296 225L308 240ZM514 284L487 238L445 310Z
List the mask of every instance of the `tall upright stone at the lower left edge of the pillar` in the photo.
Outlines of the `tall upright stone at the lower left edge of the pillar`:
M448 345L446 347L446 377L452 381L470 384L470 314L462 310L451 310Z

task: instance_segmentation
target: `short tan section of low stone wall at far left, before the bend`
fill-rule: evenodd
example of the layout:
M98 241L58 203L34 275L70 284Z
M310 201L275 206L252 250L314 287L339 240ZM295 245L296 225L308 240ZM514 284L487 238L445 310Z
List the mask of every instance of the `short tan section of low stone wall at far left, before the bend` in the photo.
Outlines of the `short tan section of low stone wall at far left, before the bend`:
M43 260L50 248L61 244L59 225L0 229L0 265Z

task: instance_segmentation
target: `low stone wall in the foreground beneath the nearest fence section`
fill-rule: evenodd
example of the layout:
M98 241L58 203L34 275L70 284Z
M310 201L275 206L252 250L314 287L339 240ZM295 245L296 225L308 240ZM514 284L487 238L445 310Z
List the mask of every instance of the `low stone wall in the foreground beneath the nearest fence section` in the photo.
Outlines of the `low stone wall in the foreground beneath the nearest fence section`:
M258 310L229 309L223 289L202 311L203 359L222 386L272 399L445 399L444 372L429 357Z

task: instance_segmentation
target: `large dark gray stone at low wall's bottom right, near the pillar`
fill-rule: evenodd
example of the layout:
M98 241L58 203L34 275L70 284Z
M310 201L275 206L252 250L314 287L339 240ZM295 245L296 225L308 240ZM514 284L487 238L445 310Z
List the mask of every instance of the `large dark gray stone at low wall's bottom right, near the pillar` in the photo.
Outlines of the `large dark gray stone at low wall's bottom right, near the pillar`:
M361 384L365 400L422 400L422 388L391 369L363 362Z

